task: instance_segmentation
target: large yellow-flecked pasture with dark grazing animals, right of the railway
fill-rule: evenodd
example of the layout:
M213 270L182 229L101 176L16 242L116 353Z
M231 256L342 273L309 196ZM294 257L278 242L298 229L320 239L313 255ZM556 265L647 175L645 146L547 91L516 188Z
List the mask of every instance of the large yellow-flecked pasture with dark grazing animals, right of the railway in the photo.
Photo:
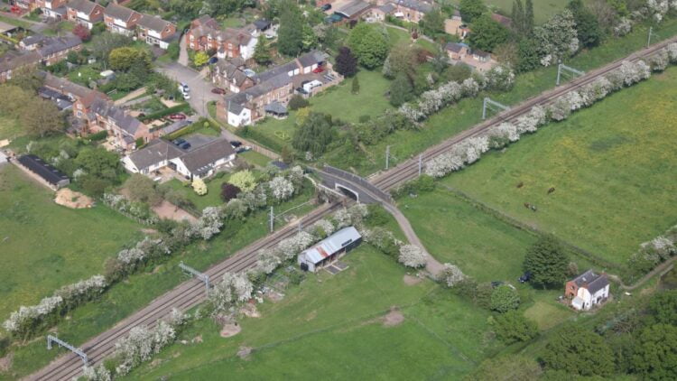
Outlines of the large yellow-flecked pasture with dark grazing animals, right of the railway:
M442 182L625 264L640 243L677 223L676 85L671 68Z

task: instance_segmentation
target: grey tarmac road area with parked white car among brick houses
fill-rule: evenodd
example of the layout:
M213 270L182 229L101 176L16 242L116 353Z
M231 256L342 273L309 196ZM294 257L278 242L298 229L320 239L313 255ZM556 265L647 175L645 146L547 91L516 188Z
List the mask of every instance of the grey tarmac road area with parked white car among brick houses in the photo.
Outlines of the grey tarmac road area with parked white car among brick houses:
M211 92L215 88L209 80L205 80L206 70L198 72L185 67L177 62L162 64L156 70L162 72L167 77L183 82L190 88L190 99L188 103L190 107L198 113L199 116L209 116L207 111L207 102L211 100L219 100L223 96Z

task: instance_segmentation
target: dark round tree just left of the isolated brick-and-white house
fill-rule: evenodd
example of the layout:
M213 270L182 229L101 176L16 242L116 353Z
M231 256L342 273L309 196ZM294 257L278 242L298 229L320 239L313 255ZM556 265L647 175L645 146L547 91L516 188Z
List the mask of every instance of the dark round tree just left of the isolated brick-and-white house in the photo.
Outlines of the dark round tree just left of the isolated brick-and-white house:
M526 251L524 271L532 274L532 282L561 287L566 280L569 258L553 237L541 237Z

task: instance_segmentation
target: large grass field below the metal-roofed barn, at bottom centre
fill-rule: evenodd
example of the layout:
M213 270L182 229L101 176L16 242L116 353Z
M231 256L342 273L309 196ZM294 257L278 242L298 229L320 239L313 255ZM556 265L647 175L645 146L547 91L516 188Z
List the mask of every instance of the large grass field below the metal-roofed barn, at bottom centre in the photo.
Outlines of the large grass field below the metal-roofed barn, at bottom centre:
M176 344L131 378L448 379L496 347L484 337L487 311L428 280L406 285L405 269L370 246L344 260L345 272L310 274L283 301L259 304L262 318L240 321L233 338L200 321L184 338L202 343ZM394 306L403 322L385 327L382 317ZM243 346L254 348L246 360L236 356Z

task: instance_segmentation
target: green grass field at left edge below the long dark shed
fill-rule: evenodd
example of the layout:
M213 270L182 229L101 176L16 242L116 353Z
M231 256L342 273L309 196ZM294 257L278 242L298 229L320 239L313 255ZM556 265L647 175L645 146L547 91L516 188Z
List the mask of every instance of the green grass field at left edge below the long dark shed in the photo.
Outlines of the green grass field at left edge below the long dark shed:
M100 273L107 257L141 237L139 225L103 205L68 209L53 197L14 165L0 168L0 320Z

